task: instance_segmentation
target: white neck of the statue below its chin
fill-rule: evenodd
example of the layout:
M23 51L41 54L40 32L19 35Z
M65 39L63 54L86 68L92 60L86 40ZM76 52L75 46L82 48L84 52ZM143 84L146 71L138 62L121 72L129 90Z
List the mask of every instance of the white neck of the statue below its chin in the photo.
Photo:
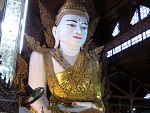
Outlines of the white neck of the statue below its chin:
M64 43L60 42L60 51L63 52L63 54L68 55L68 56L77 56L78 53L80 52L80 47L73 47L73 46L68 46Z

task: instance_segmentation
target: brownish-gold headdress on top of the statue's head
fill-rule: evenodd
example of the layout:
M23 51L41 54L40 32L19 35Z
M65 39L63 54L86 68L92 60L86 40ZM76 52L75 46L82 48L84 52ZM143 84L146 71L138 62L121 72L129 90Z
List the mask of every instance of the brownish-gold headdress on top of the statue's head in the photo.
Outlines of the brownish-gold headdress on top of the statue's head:
M89 15L87 10L79 2L79 0L66 0L64 5L58 11L58 15L56 16L55 24L58 25L62 17L66 14L75 14L79 16L83 16L89 21Z

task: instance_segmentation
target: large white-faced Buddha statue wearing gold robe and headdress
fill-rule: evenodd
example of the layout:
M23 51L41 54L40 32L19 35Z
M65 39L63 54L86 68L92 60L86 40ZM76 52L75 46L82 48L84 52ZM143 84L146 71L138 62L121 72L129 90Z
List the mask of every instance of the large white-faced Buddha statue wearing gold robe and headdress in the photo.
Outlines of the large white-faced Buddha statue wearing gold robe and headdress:
M104 112L99 62L84 48L89 15L78 0L67 0L58 11L52 33L54 49L33 51L28 84L44 87L45 94L31 104L40 113L77 113L88 108ZM47 84L51 97L46 96ZM50 102L48 101L50 98ZM59 110L48 110L57 106Z

